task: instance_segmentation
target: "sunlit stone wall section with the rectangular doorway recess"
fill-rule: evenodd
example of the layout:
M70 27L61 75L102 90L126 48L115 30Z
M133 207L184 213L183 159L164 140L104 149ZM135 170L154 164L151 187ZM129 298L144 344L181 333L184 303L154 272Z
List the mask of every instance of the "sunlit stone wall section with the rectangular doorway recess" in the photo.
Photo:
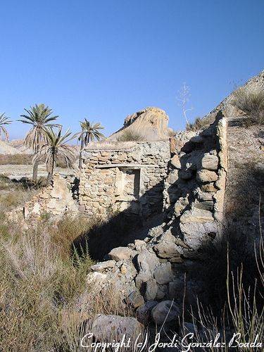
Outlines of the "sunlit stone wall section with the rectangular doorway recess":
M170 142L100 142L82 152L79 210L124 211L147 218L162 211Z

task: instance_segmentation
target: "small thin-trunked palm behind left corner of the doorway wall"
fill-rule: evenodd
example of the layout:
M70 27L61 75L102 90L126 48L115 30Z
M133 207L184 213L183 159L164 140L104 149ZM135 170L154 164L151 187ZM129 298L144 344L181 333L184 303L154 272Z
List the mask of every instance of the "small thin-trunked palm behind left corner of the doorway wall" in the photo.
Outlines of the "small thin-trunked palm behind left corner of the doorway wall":
M78 141L81 141L79 168L82 167L82 150L84 149L84 146L87 146L89 142L94 142L95 139L99 141L100 139L105 138L103 133L100 132L100 130L104 129L100 122L93 124L84 118L84 121L81 121L80 125L82 130L81 132L77 133L79 136Z

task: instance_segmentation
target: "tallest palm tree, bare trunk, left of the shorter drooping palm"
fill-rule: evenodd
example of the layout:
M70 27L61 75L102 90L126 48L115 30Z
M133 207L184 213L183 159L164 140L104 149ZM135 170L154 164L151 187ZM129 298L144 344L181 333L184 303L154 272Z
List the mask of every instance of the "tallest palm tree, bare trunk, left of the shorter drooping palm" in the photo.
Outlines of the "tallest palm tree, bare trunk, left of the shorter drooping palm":
M30 108L24 109L26 114L20 115L23 120L18 120L23 123L27 123L28 125L32 125L32 128L25 137L25 146L27 148L33 149L34 153L37 154L39 152L40 147L46 140L46 134L44 134L44 129L46 127L58 127L54 123L50 123L55 121L58 116L52 116L53 111L49 106L45 106L45 104L35 104L35 106L30 106ZM37 158L34 158L33 163L33 175L32 181L37 181L37 168L39 165L39 161Z

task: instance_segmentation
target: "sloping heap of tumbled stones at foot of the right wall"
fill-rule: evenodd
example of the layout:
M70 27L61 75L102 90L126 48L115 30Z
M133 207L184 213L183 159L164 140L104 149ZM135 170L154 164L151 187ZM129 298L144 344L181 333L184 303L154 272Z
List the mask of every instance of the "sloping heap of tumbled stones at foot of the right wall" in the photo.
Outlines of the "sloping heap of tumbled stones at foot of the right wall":
M99 290L114 284L137 310L137 319L143 324L149 323L150 318L162 324L168 313L166 321L175 321L184 295L182 253L184 249L170 230L163 233L162 227L156 227L144 240L115 248L109 253L110 260L93 265L87 284L96 285ZM195 285L194 289L194 283L187 279L187 303L194 303L196 295L202 294L201 285Z

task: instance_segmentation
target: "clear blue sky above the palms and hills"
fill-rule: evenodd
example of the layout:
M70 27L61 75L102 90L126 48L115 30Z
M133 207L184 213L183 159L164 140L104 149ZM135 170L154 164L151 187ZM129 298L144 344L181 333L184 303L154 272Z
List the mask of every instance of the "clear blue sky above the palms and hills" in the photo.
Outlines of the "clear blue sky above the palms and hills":
M106 134L126 115L163 108L185 125L176 96L191 89L190 120L264 68L263 0L2 0L0 112L13 120L46 103L78 130ZM15 122L11 138L27 125Z

